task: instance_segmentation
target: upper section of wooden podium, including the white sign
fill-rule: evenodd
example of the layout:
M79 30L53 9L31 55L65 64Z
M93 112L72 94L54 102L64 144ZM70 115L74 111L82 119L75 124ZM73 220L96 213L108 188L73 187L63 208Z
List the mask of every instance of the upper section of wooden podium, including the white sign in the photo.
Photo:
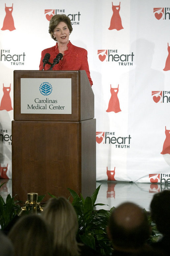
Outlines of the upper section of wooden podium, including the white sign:
M94 118L85 70L14 71L14 120L83 121Z

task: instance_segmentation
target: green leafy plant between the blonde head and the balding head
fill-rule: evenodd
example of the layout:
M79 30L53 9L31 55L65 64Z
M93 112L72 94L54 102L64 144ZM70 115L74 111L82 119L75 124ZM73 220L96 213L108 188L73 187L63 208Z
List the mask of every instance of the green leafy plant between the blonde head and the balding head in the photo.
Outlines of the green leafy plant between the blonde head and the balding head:
M103 255L112 252L112 244L107 237L106 227L111 211L95 210L96 198L100 186L94 191L91 197L79 196L74 190L68 189L73 197L72 205L77 213L79 230L77 233L78 241L90 246Z

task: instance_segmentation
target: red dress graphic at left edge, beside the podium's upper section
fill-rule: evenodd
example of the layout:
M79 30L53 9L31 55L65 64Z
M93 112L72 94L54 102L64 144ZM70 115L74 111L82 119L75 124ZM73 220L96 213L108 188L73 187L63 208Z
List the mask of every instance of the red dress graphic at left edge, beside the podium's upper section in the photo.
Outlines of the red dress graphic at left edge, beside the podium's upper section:
M12 104L11 104L11 98L10 98L10 92L11 92L11 84L10 87L4 87L3 84L3 92L4 95L2 96L1 99L1 105L0 105L0 110L13 110Z

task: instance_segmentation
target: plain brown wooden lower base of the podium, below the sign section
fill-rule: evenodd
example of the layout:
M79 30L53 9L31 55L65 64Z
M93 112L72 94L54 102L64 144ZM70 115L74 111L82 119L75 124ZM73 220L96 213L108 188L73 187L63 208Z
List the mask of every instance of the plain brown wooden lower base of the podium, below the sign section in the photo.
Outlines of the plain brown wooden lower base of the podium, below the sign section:
M96 189L96 120L12 121L12 195L56 197Z

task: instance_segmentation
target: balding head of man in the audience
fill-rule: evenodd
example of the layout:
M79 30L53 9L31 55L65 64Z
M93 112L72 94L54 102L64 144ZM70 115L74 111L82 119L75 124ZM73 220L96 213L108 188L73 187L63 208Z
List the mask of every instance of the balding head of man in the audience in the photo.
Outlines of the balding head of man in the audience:
M150 236L146 212L130 202L119 205L110 216L108 235L116 250L134 252L142 248Z

